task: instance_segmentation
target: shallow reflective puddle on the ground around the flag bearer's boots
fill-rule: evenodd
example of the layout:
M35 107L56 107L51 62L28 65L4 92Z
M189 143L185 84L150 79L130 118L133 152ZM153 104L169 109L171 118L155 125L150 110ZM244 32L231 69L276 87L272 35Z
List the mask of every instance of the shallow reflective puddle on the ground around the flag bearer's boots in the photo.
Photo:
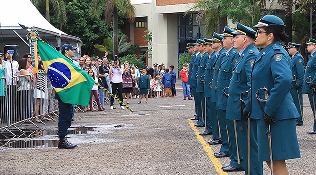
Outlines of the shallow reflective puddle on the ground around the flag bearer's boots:
M95 126L78 126L68 129L68 140L74 144L115 142L118 139L100 138L100 134L108 134L116 128L126 127L124 124L109 124ZM50 148L58 146L57 128L24 128L10 130L15 137L8 131L0 131L0 147L7 148Z

